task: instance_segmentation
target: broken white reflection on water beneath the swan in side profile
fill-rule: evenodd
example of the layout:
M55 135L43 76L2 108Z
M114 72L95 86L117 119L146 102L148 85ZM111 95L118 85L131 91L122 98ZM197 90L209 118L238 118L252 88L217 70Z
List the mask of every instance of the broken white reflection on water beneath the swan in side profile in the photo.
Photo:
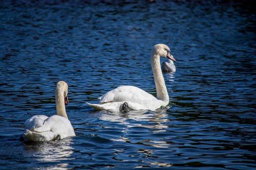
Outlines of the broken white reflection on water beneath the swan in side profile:
M115 123L120 123L121 125L125 125L126 127L122 126L121 131L125 133L125 135L119 136L116 139L111 139L112 141L117 142L128 142L130 144L137 144L138 142L142 143L146 147L140 147L137 149L137 153L143 156L144 162L148 163L149 166L159 166L159 167L171 167L172 164L166 163L166 160L163 162L160 161L147 161L148 158L152 160L152 156L155 157L154 150L157 148L166 148L168 149L170 146L169 140L166 140L166 137L160 137L158 135L154 136L154 133L168 133L166 130L168 129L168 125L165 125L166 122L169 122L168 115L166 110L169 108L163 108L156 111L130 111L128 113L108 113L102 112L99 119L105 121L111 121ZM137 128L133 127L145 127L147 129L147 133L134 133L134 131L138 130ZM144 130L143 130L144 131ZM138 134L138 135L137 135ZM131 135L134 138L131 138ZM145 137L144 137L145 135ZM151 137L149 137L149 136ZM135 137L136 136L136 137ZM150 149L151 148L151 149ZM120 150L122 152L123 150ZM133 156L133 155L129 155ZM128 161L128 160L127 160ZM136 168L141 168L142 166L137 166Z

